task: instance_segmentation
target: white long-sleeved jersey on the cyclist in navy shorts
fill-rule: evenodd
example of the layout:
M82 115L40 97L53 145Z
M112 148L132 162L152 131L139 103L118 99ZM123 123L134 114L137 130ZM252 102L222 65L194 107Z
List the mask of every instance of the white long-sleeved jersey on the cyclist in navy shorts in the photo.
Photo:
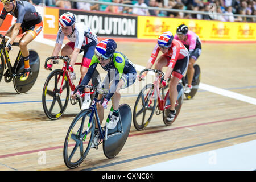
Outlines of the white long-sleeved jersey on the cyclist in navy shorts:
M56 43L62 44L64 39L64 33L59 29L57 33ZM90 42L98 42L97 35L90 30L88 26L82 23L75 23L74 31L71 35L67 36L68 40L75 42L75 48L81 49L82 46L86 46Z

